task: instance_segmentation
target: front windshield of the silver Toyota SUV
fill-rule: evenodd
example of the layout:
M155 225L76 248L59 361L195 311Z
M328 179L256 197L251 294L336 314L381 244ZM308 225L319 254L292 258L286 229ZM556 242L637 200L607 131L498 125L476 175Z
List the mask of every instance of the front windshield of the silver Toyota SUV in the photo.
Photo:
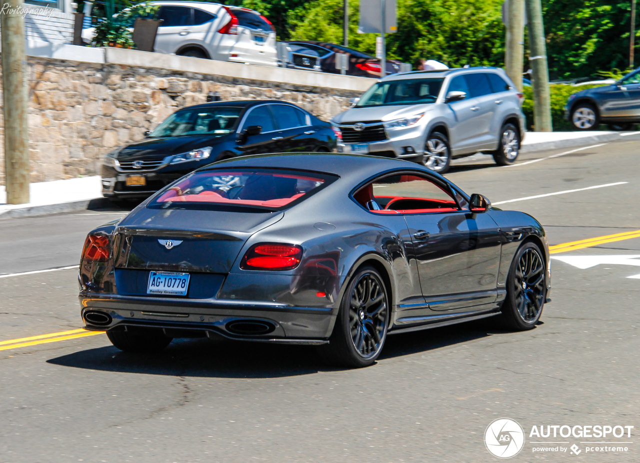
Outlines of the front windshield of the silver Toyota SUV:
M363 106L391 106L396 104L434 103L444 79L398 79L376 82L358 101Z

